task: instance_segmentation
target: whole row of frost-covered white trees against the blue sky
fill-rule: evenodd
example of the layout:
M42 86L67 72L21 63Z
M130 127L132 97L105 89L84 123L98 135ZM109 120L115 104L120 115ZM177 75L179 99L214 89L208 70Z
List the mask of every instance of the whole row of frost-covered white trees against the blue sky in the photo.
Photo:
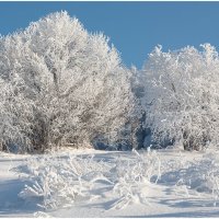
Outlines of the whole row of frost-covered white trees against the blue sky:
M123 65L103 34L56 12L0 37L0 148L127 150L218 142L219 57L210 44Z

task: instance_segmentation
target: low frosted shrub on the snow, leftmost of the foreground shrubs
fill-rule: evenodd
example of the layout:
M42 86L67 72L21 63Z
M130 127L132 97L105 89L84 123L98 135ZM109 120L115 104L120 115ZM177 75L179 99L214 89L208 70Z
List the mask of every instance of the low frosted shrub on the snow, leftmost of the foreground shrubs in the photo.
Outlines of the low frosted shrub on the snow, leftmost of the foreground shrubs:
M77 199L93 198L91 193L96 181L106 181L108 166L93 157L55 157L30 159L20 166L27 182L19 197L43 209L71 206Z

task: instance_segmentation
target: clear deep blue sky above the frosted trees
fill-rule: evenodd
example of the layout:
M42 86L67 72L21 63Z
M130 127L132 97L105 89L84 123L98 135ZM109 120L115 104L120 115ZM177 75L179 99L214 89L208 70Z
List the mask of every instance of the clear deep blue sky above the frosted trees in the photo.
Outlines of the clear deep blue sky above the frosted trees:
M203 43L219 47L219 2L0 2L0 34L60 10L110 36L126 66L140 68L158 44L164 50Z

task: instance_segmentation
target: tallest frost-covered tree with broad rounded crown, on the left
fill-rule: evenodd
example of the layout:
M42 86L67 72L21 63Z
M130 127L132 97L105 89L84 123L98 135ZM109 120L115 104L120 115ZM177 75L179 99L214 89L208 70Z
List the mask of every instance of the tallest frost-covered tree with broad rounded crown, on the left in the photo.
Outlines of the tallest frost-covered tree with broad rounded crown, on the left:
M130 71L107 37L88 33L67 12L1 37L0 78L11 87L3 111L14 117L0 136L7 147L88 146L100 136L112 143L134 120Z

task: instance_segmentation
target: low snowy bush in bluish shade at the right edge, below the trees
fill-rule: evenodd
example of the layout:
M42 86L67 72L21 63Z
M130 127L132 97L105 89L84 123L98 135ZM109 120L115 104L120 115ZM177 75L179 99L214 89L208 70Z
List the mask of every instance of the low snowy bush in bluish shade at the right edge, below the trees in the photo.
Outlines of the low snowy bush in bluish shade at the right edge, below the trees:
M218 154L206 153L199 159L172 160L163 162L159 183L173 184L176 194L189 196L208 195L212 205L219 199L219 160Z

